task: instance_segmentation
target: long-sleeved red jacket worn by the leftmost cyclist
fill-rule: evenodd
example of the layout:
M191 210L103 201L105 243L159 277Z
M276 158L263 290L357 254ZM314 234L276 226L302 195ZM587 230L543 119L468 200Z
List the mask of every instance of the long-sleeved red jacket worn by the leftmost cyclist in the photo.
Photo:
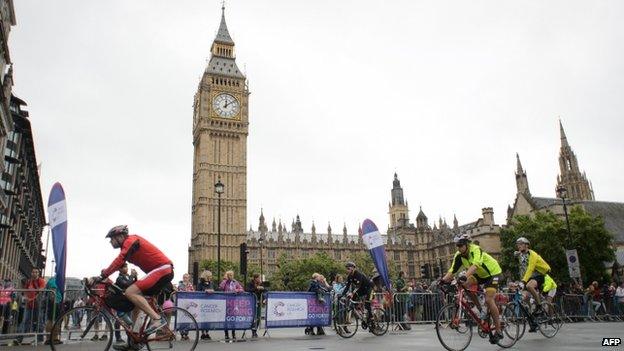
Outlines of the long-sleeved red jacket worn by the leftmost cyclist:
M145 238L138 235L128 235L121 245L121 252L117 258L108 268L102 270L102 276L106 278L115 273L126 261L138 266L145 273L149 273L162 265L172 264L162 251Z

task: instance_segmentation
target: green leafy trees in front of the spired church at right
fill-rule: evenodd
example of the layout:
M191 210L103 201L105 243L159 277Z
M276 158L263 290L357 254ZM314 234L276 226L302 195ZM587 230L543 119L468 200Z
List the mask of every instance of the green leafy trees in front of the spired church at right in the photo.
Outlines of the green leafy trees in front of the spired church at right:
M613 235L604 228L600 216L592 216L580 206L569 213L572 247L579 253L581 276L585 284L606 278L604 262L614 260ZM501 255L504 272L520 277L518 259L514 256L516 239L524 236L531 249L539 253L551 268L549 273L558 282L570 282L565 247L568 232L565 219L550 211L536 212L534 216L516 216L512 225L501 230Z

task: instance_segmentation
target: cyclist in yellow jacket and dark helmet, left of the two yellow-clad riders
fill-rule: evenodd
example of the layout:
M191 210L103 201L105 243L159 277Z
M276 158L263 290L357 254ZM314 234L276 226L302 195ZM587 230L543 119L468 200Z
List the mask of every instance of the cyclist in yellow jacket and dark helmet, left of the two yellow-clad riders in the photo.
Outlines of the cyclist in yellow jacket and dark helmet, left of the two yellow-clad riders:
M475 284L483 285L485 288L485 303L494 319L496 332L490 337L490 343L496 344L503 338L500 328L500 318L494 296L498 290L498 280L503 272L498 262L483 251L478 245L472 244L468 234L462 234L453 240L457 246L457 252L453 258L453 264L446 275L442 277L443 282L449 282L453 275L462 267L466 269L466 292L472 299L475 306L481 310L481 304L477 296L470 290ZM483 318L482 313L482 318Z

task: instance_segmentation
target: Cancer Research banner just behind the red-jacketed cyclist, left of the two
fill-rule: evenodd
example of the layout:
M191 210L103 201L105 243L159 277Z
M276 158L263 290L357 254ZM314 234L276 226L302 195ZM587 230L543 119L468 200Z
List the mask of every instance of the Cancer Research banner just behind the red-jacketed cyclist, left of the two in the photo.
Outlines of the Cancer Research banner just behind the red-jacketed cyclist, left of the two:
M251 293L178 292L176 305L188 310L200 329L251 329L256 315L256 297ZM190 321L183 316L176 328Z

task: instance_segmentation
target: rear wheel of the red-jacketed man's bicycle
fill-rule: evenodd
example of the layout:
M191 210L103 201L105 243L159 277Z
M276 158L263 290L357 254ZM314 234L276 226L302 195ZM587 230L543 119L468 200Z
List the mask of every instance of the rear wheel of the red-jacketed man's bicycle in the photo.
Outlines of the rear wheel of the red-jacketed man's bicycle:
M162 314L169 323L148 336L148 350L193 351L199 340L199 327L193 315L180 307L165 308Z

